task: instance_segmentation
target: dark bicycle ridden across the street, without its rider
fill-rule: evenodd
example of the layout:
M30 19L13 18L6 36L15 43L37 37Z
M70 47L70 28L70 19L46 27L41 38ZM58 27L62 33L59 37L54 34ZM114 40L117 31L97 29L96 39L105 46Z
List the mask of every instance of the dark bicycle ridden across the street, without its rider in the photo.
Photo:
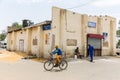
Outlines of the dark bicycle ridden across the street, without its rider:
M51 71L54 68L56 58L53 58L53 55L50 53L50 57L47 61L44 62L44 69L46 71ZM68 63L64 58L60 59L60 63L58 64L60 70L65 70L68 67Z

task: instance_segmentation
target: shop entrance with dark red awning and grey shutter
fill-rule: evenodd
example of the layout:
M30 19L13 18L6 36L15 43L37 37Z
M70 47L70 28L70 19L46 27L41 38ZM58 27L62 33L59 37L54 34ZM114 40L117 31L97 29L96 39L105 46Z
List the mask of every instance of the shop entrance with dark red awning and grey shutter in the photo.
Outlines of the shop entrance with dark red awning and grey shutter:
M88 44L94 47L94 56L102 55L102 40L103 36L100 34L88 34L87 35L87 46ZM89 56L89 51L87 49L87 56Z

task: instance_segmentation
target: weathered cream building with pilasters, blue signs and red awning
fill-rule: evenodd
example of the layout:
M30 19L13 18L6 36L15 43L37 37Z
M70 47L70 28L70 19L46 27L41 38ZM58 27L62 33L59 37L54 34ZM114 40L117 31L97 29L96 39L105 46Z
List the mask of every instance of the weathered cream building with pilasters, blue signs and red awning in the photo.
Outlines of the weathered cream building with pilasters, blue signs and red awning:
M23 37L19 34L21 31ZM91 16L53 7L49 24L41 22L8 32L7 49L47 57L54 46L58 45L65 56L72 57L76 47L79 47L81 55L87 56L88 44L91 44L95 48L95 56L115 55L115 36L116 19L113 17ZM13 42L10 39L14 39ZM20 48L23 44L24 48Z

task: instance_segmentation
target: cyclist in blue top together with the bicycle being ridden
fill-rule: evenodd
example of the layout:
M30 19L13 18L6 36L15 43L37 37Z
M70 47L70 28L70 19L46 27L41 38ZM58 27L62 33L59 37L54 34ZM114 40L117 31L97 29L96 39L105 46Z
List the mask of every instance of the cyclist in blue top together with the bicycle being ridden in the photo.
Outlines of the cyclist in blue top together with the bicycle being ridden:
M68 66L67 61L62 57L62 51L55 46L55 50L53 50L50 54L50 58L44 62L44 69L47 71L51 71L53 67L59 67L60 70L65 70ZM56 54L56 59L53 58L53 54Z

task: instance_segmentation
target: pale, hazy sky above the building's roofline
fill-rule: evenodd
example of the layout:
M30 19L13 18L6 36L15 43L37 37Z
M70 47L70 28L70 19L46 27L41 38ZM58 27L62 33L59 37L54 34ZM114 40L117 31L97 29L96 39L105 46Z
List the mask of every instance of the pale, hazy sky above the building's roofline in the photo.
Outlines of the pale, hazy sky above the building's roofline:
M51 20L53 6L80 14L120 19L120 0L0 0L0 32L14 22L22 24L23 19L34 23Z

